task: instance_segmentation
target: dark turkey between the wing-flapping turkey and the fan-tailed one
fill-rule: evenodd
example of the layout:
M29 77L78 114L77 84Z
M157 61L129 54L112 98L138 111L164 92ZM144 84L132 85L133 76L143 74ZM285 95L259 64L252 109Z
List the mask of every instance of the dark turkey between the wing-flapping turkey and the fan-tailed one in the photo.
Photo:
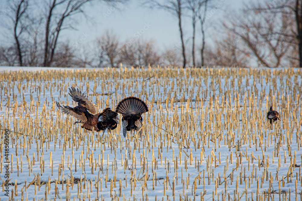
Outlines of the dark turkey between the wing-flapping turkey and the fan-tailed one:
M97 127L99 130L103 130L103 135L105 133L106 128L109 132L110 130L114 130L117 127L117 124L120 121L117 115L117 112L112 111L110 108L106 108L98 116Z

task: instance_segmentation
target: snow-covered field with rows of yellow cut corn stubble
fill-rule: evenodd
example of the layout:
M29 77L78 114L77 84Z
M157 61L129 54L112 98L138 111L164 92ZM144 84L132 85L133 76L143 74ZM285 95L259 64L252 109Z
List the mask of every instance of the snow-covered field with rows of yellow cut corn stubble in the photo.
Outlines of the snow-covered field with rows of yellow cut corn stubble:
M0 200L301 200L301 76L294 68L0 68ZM73 125L55 105L75 106L71 86L99 112L127 96L144 100L144 135ZM270 106L281 119L273 130Z

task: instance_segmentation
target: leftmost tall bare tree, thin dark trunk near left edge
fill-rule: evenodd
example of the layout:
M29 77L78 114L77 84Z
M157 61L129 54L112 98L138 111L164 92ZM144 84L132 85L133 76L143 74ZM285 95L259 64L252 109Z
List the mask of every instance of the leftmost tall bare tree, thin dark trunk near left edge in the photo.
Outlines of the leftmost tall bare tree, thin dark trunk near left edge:
M41 31L41 25L43 18L37 16L34 12L34 4L30 4L33 1L30 0L14 0L7 1L8 9L3 12L7 17L8 24L5 24L5 20L2 22L9 33L6 39L10 41L13 39L13 47L17 56L19 66L41 66L43 62L42 43L43 35ZM1 13L2 13L1 12ZM11 49L11 44L8 44L8 49ZM12 56L12 55L11 55ZM14 64L16 65L16 64Z

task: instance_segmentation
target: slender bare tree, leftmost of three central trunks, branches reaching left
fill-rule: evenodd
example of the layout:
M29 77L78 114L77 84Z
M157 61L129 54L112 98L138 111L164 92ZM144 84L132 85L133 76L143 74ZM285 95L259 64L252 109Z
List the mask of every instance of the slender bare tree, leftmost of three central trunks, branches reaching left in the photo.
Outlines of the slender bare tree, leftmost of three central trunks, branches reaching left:
M149 8L160 8L170 12L172 15L176 16L178 19L178 28L180 33L180 39L182 42L182 58L183 58L183 68L186 66L186 53L185 53L185 42L183 39L182 31L182 15L183 15L183 0L165 0L163 3L160 3L156 0L146 0L143 5L148 5Z

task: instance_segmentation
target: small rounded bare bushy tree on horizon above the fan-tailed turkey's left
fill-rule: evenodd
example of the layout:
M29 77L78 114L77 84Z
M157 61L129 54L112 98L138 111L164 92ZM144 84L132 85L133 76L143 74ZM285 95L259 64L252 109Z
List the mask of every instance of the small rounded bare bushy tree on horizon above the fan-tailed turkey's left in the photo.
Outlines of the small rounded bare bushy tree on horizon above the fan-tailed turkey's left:
M107 64L111 67L118 67L119 39L113 30L106 30L101 39L98 39L98 45L104 52Z

